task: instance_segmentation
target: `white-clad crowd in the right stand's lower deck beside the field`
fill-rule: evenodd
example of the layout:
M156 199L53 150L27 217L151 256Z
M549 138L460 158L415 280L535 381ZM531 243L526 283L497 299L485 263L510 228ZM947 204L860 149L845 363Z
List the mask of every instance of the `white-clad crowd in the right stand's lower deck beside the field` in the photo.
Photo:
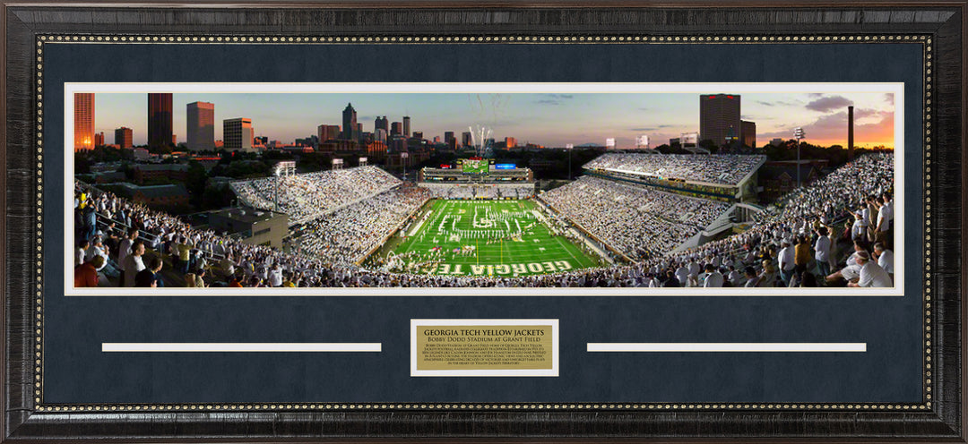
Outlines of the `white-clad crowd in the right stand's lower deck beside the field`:
M582 176L541 194L562 216L634 259L671 252L729 205Z

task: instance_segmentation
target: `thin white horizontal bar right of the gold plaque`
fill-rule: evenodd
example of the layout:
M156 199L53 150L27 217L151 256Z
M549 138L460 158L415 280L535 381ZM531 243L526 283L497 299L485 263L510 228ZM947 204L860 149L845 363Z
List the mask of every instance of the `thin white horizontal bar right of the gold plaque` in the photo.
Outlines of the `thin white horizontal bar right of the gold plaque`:
M867 342L589 342L600 352L866 352Z

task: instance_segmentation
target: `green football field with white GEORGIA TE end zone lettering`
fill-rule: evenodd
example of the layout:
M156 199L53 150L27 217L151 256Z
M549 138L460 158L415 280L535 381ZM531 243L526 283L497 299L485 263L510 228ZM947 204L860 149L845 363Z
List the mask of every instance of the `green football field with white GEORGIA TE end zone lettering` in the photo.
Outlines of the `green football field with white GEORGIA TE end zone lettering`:
M390 271L514 277L556 273L601 264L549 228L529 200L427 202L416 222L366 260Z

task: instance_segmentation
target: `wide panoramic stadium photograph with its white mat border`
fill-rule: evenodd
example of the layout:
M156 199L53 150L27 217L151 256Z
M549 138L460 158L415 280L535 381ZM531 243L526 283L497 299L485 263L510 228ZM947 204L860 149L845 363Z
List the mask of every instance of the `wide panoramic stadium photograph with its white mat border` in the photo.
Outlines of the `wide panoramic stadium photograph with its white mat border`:
M66 281L895 288L899 89L685 89L76 89Z

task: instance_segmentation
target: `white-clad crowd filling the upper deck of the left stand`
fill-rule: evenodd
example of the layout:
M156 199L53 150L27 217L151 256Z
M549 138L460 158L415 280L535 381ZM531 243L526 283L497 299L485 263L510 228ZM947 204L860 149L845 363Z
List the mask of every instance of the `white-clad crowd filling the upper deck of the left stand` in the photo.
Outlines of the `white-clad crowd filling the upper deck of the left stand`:
M400 184L377 166L360 166L233 182L231 188L248 206L286 213L290 223L303 223Z

